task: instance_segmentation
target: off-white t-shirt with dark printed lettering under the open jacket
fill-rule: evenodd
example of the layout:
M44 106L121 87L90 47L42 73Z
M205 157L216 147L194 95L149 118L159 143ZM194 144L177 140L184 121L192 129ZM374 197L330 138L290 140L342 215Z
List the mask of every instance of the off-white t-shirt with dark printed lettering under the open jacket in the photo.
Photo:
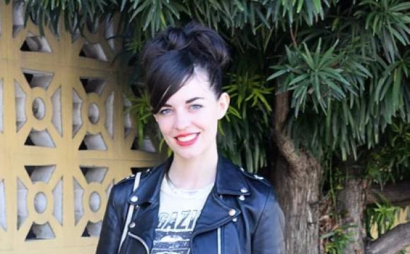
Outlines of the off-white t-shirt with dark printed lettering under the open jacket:
M213 183L199 190L176 188L164 177L152 254L189 254L194 226Z

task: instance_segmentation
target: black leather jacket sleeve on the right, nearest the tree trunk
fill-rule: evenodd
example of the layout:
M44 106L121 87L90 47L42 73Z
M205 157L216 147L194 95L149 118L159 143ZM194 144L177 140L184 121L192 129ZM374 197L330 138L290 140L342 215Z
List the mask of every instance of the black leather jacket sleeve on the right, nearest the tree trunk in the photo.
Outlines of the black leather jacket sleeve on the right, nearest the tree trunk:
M285 253L285 218L271 190L252 237L252 254Z

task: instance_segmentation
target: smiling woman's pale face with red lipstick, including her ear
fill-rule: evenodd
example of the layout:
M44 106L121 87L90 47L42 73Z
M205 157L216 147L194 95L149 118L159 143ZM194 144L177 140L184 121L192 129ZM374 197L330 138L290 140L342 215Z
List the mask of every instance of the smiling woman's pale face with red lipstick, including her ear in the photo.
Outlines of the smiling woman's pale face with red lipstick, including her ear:
M218 120L225 115L228 106L228 94L216 98L208 75L196 70L155 118L175 155L192 159L216 150Z

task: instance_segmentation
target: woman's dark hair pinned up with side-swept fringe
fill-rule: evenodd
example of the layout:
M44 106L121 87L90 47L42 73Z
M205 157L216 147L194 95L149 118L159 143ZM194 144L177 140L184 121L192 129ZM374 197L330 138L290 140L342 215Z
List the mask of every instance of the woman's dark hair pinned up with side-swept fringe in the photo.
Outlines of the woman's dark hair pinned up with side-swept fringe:
M144 80L150 104L156 114L195 68L206 71L211 88L222 94L222 68L228 62L228 49L217 32L198 23L185 28L169 27L150 40L141 54Z

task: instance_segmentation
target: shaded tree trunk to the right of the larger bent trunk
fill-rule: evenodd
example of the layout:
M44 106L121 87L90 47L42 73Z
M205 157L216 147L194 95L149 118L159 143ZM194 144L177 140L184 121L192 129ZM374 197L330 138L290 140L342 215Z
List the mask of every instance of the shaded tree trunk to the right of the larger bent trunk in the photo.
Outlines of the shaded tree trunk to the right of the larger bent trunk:
M345 254L365 253L365 227L363 226L363 215L365 211L365 181L361 179L348 179L344 190L339 193L339 209L346 212L341 219L344 226L352 226L347 232L352 234L353 242L345 249ZM342 212L342 214L344 214Z

